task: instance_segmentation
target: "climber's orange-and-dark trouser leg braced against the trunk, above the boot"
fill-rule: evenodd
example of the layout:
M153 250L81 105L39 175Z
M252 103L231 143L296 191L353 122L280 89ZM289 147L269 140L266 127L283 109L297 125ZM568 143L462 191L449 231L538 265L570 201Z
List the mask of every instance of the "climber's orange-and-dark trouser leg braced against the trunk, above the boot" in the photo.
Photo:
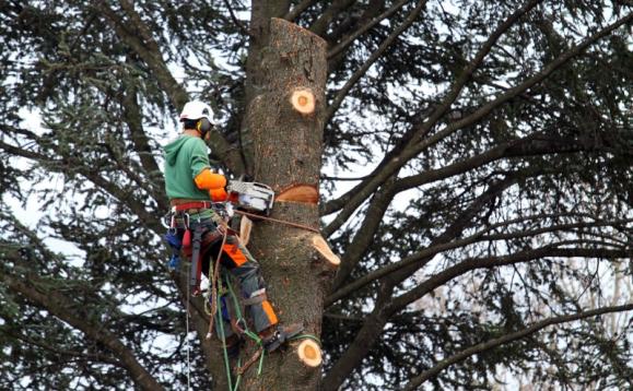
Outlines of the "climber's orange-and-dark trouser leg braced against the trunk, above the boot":
M278 323L277 315L266 295L259 263L235 236L228 236L223 247L222 262L239 283L244 305L248 307L257 332Z

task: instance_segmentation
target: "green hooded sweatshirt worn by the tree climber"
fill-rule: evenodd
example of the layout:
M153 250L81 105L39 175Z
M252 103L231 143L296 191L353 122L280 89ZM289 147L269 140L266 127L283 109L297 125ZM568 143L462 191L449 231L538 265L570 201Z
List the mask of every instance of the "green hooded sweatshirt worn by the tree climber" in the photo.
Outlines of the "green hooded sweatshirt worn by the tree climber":
M169 200L210 200L209 193L198 189L194 181L204 168L210 168L204 141L184 134L165 145L163 152L165 190Z

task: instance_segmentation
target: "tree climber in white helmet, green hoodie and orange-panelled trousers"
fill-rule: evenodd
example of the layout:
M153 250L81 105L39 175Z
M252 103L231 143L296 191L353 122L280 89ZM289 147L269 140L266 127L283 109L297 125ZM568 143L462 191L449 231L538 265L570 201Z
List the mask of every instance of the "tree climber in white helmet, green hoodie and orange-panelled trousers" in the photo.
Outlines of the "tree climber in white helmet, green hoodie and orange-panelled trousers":
M183 252L191 259L190 286L194 295L200 293L202 272L209 277L206 271L222 251L221 265L238 281L243 304L249 309L247 312L263 347L272 352L298 334L303 327L279 324L266 295L259 263L227 228L232 217L228 201L236 201L237 194L226 191L226 177L214 173L209 164L203 140L214 125L211 107L202 102L188 102L180 114L180 122L183 132L164 147L165 190L173 212L172 239L179 241ZM223 328L226 345L230 352L236 354L241 329L236 324L232 328L224 317L221 318L226 323Z

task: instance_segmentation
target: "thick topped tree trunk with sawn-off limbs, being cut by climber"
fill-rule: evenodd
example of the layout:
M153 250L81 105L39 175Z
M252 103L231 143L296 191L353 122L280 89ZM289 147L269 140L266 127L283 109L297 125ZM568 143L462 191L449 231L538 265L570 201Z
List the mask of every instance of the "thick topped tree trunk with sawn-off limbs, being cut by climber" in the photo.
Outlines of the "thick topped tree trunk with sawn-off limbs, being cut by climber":
M254 141L255 180L271 186L278 194L301 188L302 197L282 197L271 216L318 228L326 44L304 28L272 19L260 58L258 94L246 116ZM293 99L297 91L301 94ZM314 197L305 197L306 191ZM278 223L255 222L249 248L261 263L269 298L281 323L300 322L306 333L318 336L324 286L331 279L331 268L313 247L315 235ZM315 390L320 368L300 363L297 344L267 356L259 378L256 369L250 369L244 389Z

